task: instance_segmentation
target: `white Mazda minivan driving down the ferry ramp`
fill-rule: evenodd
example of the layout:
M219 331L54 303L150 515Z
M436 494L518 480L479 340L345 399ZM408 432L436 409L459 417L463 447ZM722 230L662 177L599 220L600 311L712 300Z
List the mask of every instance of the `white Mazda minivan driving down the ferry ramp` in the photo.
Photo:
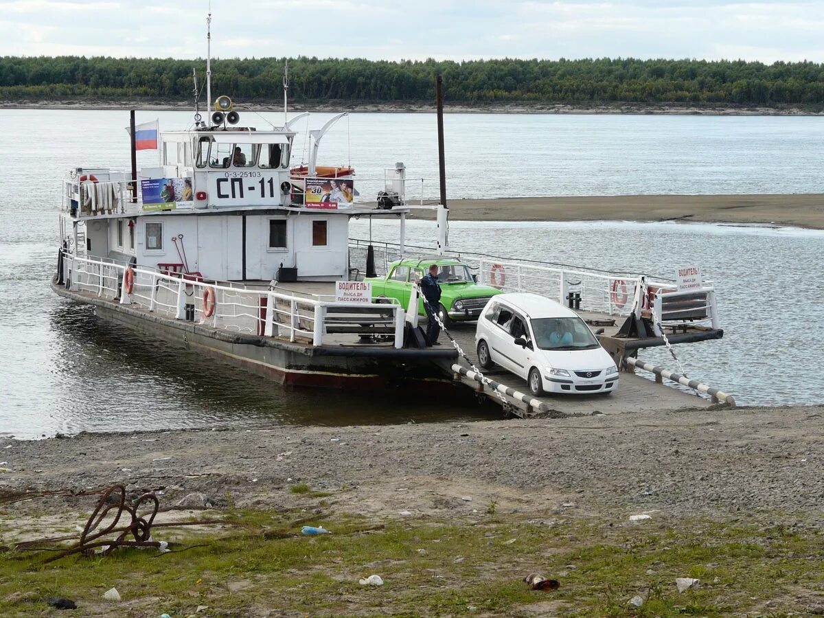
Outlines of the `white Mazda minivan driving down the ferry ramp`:
M531 293L500 294L486 303L475 344L481 368L500 365L522 377L533 395L591 395L618 388L618 368L578 314Z

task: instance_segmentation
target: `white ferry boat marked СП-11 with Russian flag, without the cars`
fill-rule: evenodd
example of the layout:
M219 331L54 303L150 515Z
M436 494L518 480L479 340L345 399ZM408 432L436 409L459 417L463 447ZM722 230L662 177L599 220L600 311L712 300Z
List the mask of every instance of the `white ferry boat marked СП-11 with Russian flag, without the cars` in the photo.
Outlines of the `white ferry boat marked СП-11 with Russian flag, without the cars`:
M293 127L305 115L288 118L287 88L284 78L283 124L268 129L246 124L228 96L210 102L207 119L195 99L188 130L138 132L132 112L131 171L77 166L63 176L54 291L94 305L100 316L282 384L464 383L518 415L549 410L545 401L481 375L468 331L448 335L452 346L422 348L414 337L417 299L403 307L371 297L363 279L376 276L376 264L382 262L388 276L391 260L415 255L405 246L406 218L413 208L428 208L437 214L434 253L465 260L478 283L569 304L625 371L640 367L634 362L639 349L723 335L709 284L685 292L630 274L451 251L445 204L408 204L402 163L388 168L379 190L372 185L363 199L352 166L317 164L321 139L344 114L309 132L309 160L295 165ZM138 171L140 138L157 141L158 166ZM353 218L375 217L398 222L396 244L350 238ZM649 400L654 382L638 379L640 395L634 399L624 380L625 399L613 407L637 410ZM714 389L704 392L715 397ZM669 396L674 407L692 403L679 399L683 393Z

